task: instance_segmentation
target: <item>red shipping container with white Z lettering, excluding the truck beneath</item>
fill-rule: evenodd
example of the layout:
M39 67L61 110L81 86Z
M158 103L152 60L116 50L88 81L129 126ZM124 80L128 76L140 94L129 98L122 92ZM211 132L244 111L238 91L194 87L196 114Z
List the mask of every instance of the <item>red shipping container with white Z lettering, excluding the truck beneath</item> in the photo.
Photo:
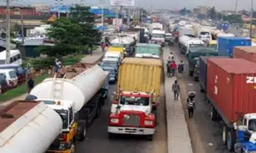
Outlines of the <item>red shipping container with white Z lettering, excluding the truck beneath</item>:
M208 59L207 79L207 96L227 122L235 122L239 114L256 112L255 63L244 59Z

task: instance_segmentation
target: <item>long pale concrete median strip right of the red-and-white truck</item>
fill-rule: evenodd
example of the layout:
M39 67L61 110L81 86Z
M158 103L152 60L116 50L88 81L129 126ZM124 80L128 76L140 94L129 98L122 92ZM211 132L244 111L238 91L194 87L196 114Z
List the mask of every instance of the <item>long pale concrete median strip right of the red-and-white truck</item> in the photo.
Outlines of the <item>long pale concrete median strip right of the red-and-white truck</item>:
M170 54L168 47L163 49L163 59L164 59L164 75L165 75L165 96L166 96L166 120L167 120L167 140L168 140L168 152L184 152L193 153L191 147L191 140L188 133L188 126L184 116L184 110L182 108L182 103L180 97L178 101L174 101L172 84L176 77L166 77L166 59ZM177 59L177 62L179 59Z

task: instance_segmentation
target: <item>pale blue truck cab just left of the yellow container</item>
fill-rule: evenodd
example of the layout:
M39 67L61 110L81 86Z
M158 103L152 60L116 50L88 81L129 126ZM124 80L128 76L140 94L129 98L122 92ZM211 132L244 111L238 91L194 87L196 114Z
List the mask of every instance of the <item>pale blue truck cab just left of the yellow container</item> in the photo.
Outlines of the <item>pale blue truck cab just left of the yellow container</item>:
M109 82L116 82L118 77L118 59L104 58L100 63L100 67L104 71L109 71Z

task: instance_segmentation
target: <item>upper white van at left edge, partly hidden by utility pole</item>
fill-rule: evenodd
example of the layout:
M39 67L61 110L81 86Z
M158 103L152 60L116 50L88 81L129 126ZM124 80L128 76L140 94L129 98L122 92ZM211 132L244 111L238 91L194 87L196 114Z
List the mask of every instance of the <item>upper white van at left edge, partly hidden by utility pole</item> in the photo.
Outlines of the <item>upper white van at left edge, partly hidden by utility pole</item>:
M22 58L19 50L10 50L10 64L22 64ZM0 52L0 64L6 64L6 50Z

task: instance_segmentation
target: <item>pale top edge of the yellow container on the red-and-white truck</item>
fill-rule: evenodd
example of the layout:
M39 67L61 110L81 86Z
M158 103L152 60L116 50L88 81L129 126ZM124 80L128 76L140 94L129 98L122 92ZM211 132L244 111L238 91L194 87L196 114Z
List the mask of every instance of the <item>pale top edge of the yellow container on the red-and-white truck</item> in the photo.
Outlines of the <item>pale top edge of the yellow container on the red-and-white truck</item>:
M162 66L162 61L159 59L142 59L134 57L126 57L125 59L123 59L122 63Z

